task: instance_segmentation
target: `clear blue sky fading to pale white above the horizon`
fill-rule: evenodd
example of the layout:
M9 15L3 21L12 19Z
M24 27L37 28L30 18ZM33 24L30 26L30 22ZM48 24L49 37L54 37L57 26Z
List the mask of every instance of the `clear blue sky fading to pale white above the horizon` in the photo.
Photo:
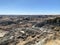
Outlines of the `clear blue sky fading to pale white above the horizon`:
M60 14L60 0L0 0L0 14Z

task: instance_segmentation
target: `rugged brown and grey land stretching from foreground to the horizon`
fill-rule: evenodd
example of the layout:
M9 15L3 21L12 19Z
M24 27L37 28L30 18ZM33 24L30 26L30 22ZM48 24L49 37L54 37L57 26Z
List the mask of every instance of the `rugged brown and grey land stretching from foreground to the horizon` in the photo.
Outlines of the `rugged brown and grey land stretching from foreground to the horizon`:
M0 15L0 45L60 45L60 16Z

